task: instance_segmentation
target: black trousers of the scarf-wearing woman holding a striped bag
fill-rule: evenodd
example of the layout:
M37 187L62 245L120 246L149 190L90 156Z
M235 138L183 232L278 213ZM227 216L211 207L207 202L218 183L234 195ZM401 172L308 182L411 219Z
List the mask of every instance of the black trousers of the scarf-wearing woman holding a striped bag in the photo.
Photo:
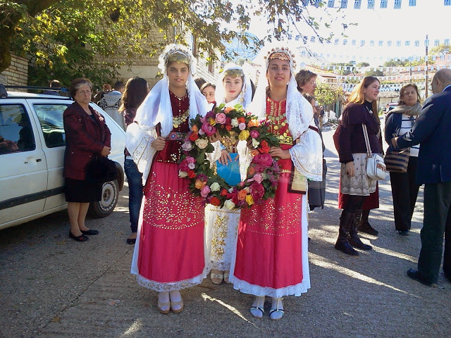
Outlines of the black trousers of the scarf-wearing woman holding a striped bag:
M419 185L415 184L418 157L410 156L407 173L390 173L396 230L410 230Z

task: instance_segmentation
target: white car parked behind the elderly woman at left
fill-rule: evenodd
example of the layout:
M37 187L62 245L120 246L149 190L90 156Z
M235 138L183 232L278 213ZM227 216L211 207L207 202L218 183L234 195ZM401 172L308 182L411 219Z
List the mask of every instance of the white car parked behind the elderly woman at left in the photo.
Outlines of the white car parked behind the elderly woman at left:
M67 208L63 194L66 140L64 96L8 92L0 98L0 230ZM102 199L89 214L113 212L124 184L125 132L96 104L111 130L111 154L118 178L103 185Z

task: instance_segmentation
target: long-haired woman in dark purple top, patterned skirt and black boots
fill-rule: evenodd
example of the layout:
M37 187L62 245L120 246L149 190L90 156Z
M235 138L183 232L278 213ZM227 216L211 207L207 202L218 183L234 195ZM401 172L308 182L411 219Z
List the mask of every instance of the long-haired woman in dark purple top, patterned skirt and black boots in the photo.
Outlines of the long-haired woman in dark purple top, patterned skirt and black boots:
M367 76L352 91L343 111L338 135L338 155L340 156L340 192L349 198L340 217L340 229L335 249L347 255L359 256L354 249L371 250L357 234L355 213L362 208L366 196L376 191L376 180L366 175L367 152L381 154L378 139L381 121L377 114L377 98L380 82L376 77ZM368 136L368 149L364 129Z

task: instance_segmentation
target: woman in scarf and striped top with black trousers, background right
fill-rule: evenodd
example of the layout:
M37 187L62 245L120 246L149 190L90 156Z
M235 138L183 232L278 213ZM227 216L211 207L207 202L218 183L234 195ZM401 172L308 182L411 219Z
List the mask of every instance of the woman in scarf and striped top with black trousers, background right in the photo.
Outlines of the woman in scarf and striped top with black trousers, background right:
M398 106L392 109L385 118L385 141L390 144L390 139L411 130L420 111L421 104L418 87L414 83L405 84L400 89ZM406 149L404 152L406 151L409 151L409 149ZM395 229L401 236L409 235L416 196L418 196L419 185L415 184L418 153L419 144L410 148L409 156L407 158L406 155L402 168L390 170L390 167L388 167L390 184L392 186ZM389 158L393 156L393 153L387 151L385 156ZM398 156L398 159L400 158Z

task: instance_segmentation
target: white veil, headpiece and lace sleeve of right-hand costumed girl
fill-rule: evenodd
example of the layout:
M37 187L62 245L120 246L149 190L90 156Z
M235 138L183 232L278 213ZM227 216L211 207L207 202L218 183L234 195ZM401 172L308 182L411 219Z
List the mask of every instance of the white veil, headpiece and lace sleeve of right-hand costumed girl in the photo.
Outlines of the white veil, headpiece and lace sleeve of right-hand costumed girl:
M266 72L271 60L279 58L290 62L290 80L287 84L286 118L288 129L293 139L299 142L292 146L290 154L295 168L310 180L321 181L323 170L323 154L321 149L321 138L318 132L309 129L309 125L315 127L313 109L309 101L297 90L295 80L294 55L286 47L269 47L264 53L264 65L261 78L248 111L259 118L266 118Z

